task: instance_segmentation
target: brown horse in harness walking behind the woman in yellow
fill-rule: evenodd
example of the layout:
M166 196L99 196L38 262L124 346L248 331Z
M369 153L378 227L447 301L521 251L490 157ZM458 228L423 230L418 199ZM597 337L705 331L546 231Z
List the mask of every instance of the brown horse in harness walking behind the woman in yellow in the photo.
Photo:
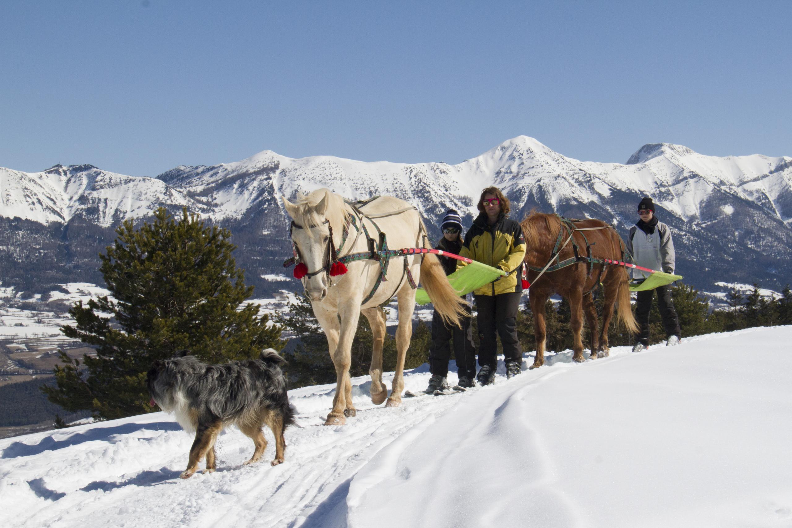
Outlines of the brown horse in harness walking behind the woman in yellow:
M542 367L544 364L547 335L545 305L552 294L559 294L569 301L569 308L572 311L569 325L574 338L573 360L578 363L585 360L581 338L584 312L588 328L591 329L592 359L608 355L607 327L611 324L615 303L618 303L619 321L626 326L628 331L638 332L638 324L630 310L630 278L625 268L579 260L550 271L556 263L573 259L576 252L577 256L583 258L590 256L600 260L623 260L624 244L613 227L601 220L576 220L572 222L571 226L566 224L565 227L558 215L544 215L535 211L531 211L531 214L523 220L521 225L525 236L524 261L527 264L528 282L531 283L530 300L531 310L534 313L534 335L536 338L536 359L531 368ZM572 231L572 239L564 245L572 226L576 230ZM560 243L558 243L559 233L561 233ZM556 246L560 248L558 260L555 260L553 254ZM539 276L538 271L531 269L542 270L551 259L553 259L553 264L543 275ZM537 277L539 277L538 280ZM596 309L592 299L592 290L598 286L598 283L602 283L605 291L602 330L599 336L597 336Z

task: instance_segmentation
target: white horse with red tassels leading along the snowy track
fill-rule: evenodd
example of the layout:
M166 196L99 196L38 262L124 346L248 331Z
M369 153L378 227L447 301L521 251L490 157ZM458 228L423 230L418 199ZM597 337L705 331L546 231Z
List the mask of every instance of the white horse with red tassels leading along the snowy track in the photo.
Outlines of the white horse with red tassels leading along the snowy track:
M397 256L394 255L397 252L388 251L390 248L431 247L416 208L392 196L380 196L356 207L327 189L311 192L296 203L289 202L285 196L283 200L292 219L291 241L297 263L295 277L302 279L314 314L327 336L330 357L336 368L336 394L325 425L343 425L345 416L356 414L349 366L360 313L367 317L374 335L368 371L371 401L375 405L385 401L388 393L383 383L386 327L382 306L394 295L398 298L398 356L386 407L400 405L404 389L402 370L413 334L414 288L418 281L444 319L459 325L459 317L464 313L464 301L448 283L435 255L402 256L400 253ZM375 255L379 255L379 260L375 260Z

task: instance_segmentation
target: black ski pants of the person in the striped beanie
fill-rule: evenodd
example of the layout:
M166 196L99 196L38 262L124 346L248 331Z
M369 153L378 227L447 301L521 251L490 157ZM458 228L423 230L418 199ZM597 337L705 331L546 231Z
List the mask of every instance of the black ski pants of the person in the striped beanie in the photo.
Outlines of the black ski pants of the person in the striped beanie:
M432 315L432 346L429 348L429 372L432 374L444 378L448 375L448 360L451 359L449 341L453 337L457 374L471 379L476 377L476 347L470 329L470 308L465 310L467 315L459 321L462 328L449 325L437 312Z

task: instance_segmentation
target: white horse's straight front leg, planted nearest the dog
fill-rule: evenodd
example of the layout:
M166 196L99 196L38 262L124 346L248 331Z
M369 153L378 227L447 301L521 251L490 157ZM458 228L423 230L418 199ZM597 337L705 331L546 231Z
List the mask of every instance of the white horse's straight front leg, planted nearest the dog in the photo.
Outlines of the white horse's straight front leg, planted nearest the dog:
M333 397L333 409L327 415L325 425L344 425L345 416L352 416L355 412L349 367L352 365L352 340L355 338L357 321L360 318L360 298L350 299L338 306L338 315L341 317L338 344L335 350L330 351L333 366L336 367L336 395Z

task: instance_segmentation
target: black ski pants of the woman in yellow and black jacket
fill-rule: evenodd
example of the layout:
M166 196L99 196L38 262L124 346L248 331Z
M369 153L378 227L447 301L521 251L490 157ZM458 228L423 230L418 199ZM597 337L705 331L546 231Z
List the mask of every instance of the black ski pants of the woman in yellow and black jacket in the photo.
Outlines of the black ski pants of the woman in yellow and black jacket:
M478 365L497 367L496 333L501 336L504 361L522 363L523 349L517 339L517 310L520 309L521 291L510 294L476 295L478 310Z

